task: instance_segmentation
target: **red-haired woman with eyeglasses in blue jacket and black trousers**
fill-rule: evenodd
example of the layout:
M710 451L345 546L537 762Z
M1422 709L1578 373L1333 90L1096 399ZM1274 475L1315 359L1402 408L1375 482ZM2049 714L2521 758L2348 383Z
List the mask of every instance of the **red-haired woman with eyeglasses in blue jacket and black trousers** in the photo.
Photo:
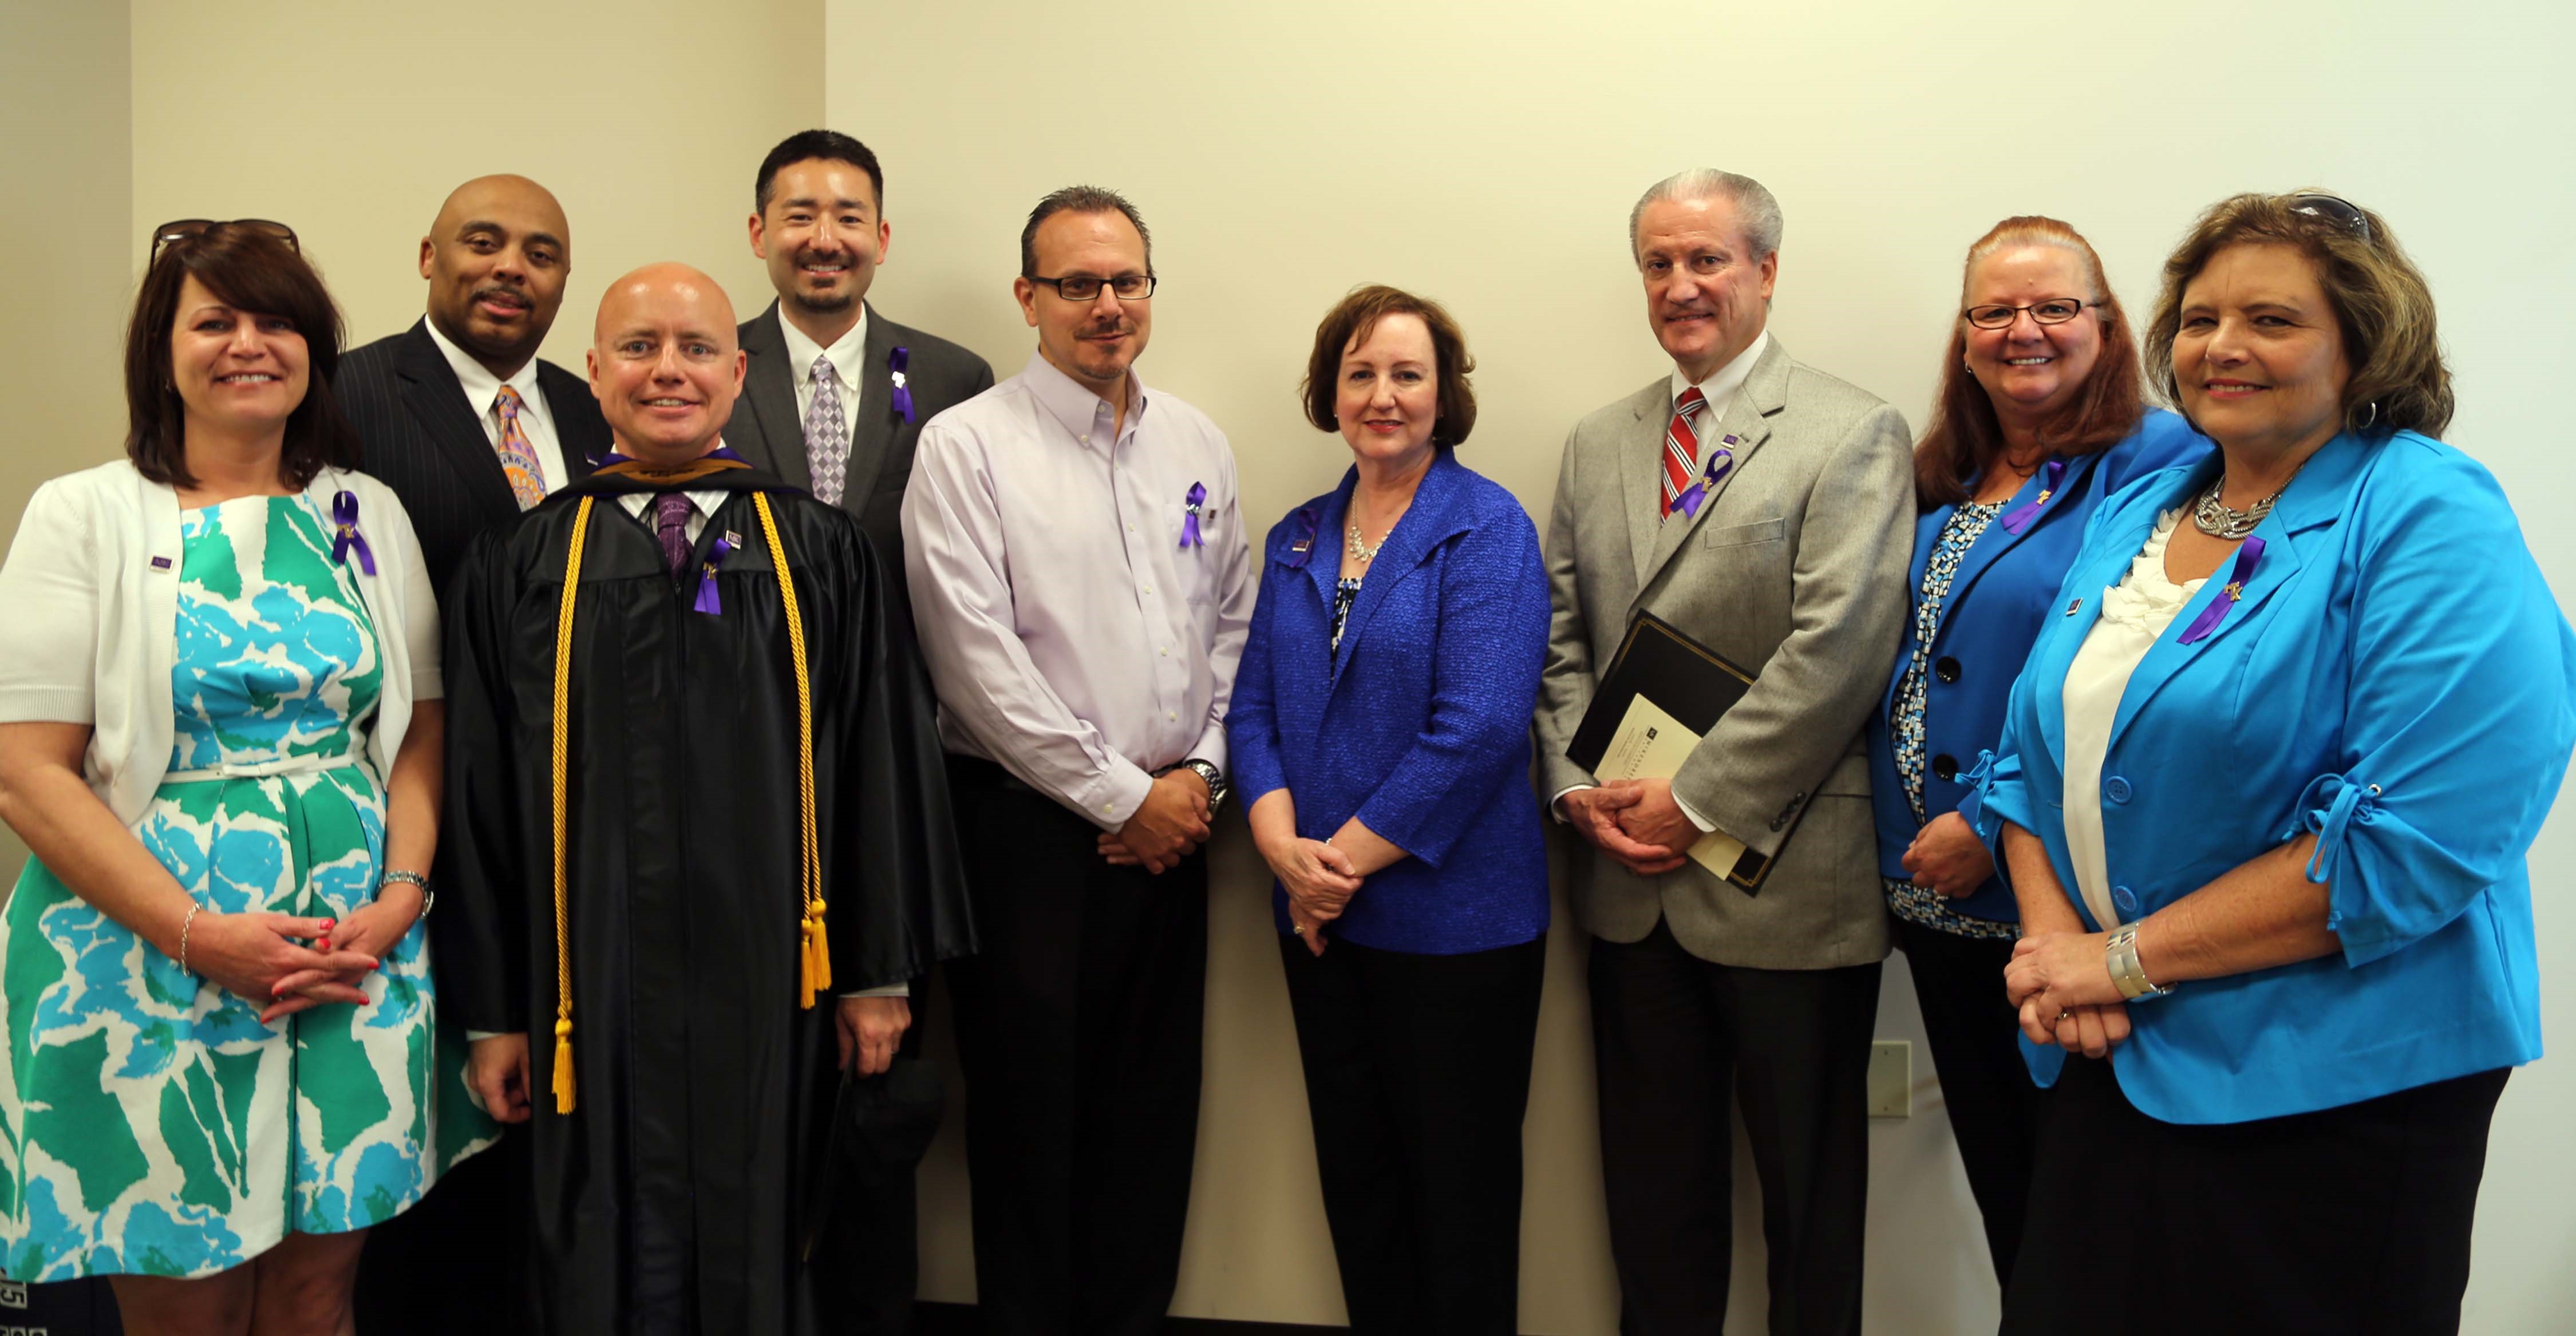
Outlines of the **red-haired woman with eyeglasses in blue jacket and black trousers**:
M2004 1285L2038 1086L2002 986L2020 914L1960 780L2004 728L2084 520L2125 481L2208 448L2146 409L2128 317L2076 229L2004 219L1968 247L1940 399L1914 448L1914 615L1870 716L1870 801L1896 942Z

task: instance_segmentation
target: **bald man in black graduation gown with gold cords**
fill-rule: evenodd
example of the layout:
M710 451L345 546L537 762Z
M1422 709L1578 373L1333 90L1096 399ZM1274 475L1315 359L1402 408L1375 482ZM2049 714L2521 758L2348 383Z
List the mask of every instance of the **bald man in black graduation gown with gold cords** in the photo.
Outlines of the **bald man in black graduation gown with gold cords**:
M703 273L613 283L618 453L479 538L443 610L440 1004L531 1122L544 1331L835 1331L835 1104L891 1058L884 999L840 994L971 950L889 571L721 448L742 366Z

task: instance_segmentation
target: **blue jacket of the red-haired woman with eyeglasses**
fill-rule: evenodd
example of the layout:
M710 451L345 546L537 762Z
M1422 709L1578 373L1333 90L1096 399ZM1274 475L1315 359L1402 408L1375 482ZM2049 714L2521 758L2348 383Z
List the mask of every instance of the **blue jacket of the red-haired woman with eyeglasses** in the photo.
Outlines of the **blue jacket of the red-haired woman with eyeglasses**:
M1950 577L1950 597L1942 600L1940 631L1932 633L1932 672L1924 682L1924 821L1958 808L1976 824L1976 790L1965 785L1976 757L1994 747L2004 731L2004 700L2012 698L2012 680L2022 674L2030 641L2038 638L2066 566L2074 564L2084 543L2084 523L2102 505L2102 497L2130 481L2197 461L2210 450L2210 440L2182 417L2148 409L2136 432L2107 450L2066 461L2066 471L2050 487L2048 469L2040 469L2004 502L2004 515L2038 499L2048 489L2048 502L2022 533L2004 528L2002 517L1986 525L1968 556ZM1940 528L1950 523L1958 505L1924 512L1914 520L1914 564L1906 566L1909 608L1922 608L1924 564ZM1971 597L1973 595L1973 597ZM1922 824L1906 803L1904 780L1896 777L1896 685L1914 659L1914 613L1906 613L1904 641L1896 644L1896 667L1888 672L1888 690L1870 716L1870 808L1878 816L1878 873L1906 880L1904 857ZM1973 896L1945 901L1971 919L2014 922L2020 909L2012 888L2002 878L1986 878Z

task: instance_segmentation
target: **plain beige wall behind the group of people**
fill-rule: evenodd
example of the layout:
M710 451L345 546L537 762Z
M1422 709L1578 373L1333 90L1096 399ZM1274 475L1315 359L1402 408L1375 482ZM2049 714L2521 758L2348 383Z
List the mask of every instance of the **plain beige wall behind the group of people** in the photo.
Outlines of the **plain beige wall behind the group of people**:
M971 13L969 13L971 10ZM26 386L10 396L0 523L33 481L108 458L116 345L142 229L170 216L291 221L355 340L420 311L417 237L461 178L520 170L574 227L567 319L629 265L711 268L750 309L750 172L829 121L889 170L894 257L873 299L1005 376L1015 237L1038 193L1097 180L1159 232L1144 376L1234 435L1249 510L1329 487L1340 445L1296 420L1314 319L1391 281L1458 311L1481 358L1466 461L1543 512L1566 425L1662 371L1623 255L1628 203L1685 165L1767 180L1788 209L1775 332L1917 422L1958 252L2009 211L2071 219L2143 304L2161 247L2239 188L2324 183L2383 209L2432 273L2460 373L2452 438L2486 458L2561 589L2576 507L2558 381L2576 366L2576 139L2563 5L2184 0L2050 10L2002 31L1984 5L1842 3L1759 13L1633 0L992 0L690 5L526 3L464 15L381 0L0 5L5 281ZM2136 18L2133 18L2136 15ZM2223 36L2213 36L2223 33ZM1059 59L1056 51L1064 51ZM500 126L484 134L482 126ZM2527 147L2540 152L2527 152ZM2535 852L2543 970L2576 976L2561 819ZM1208 1084L1180 1313L1334 1321L1314 1161L1262 878L1216 847ZM1589 1120L1582 958L1558 929L1528 1120L1522 1328L1613 1331ZM2548 1030L2576 1035L2571 988ZM933 1017L945 1035L940 1017ZM1880 1032L1917 1037L1904 963ZM1991 1331L1984 1243L1917 1045L1917 1115L1873 1125L1870 1331ZM2576 1303L2576 1068L2517 1073L2494 1133L2465 1328L2543 1331ZM1741 1166L1739 1166L1741 1174ZM1749 1174L1741 1174L1749 1184ZM925 1176L925 1297L969 1297L963 1171ZM1757 1236L1754 1197L1736 1202ZM1731 1328L1757 1331L1759 1251L1739 1248Z

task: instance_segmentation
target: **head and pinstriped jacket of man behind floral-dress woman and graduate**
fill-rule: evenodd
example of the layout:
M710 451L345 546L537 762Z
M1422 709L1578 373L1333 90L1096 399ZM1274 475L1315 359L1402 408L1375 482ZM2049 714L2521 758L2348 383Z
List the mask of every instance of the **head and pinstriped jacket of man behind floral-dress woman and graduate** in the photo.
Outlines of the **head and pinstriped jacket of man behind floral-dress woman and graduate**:
M428 314L340 358L358 466L402 497L440 592L477 533L608 453L582 376L536 358L569 273L572 227L544 185L469 180L420 239Z

